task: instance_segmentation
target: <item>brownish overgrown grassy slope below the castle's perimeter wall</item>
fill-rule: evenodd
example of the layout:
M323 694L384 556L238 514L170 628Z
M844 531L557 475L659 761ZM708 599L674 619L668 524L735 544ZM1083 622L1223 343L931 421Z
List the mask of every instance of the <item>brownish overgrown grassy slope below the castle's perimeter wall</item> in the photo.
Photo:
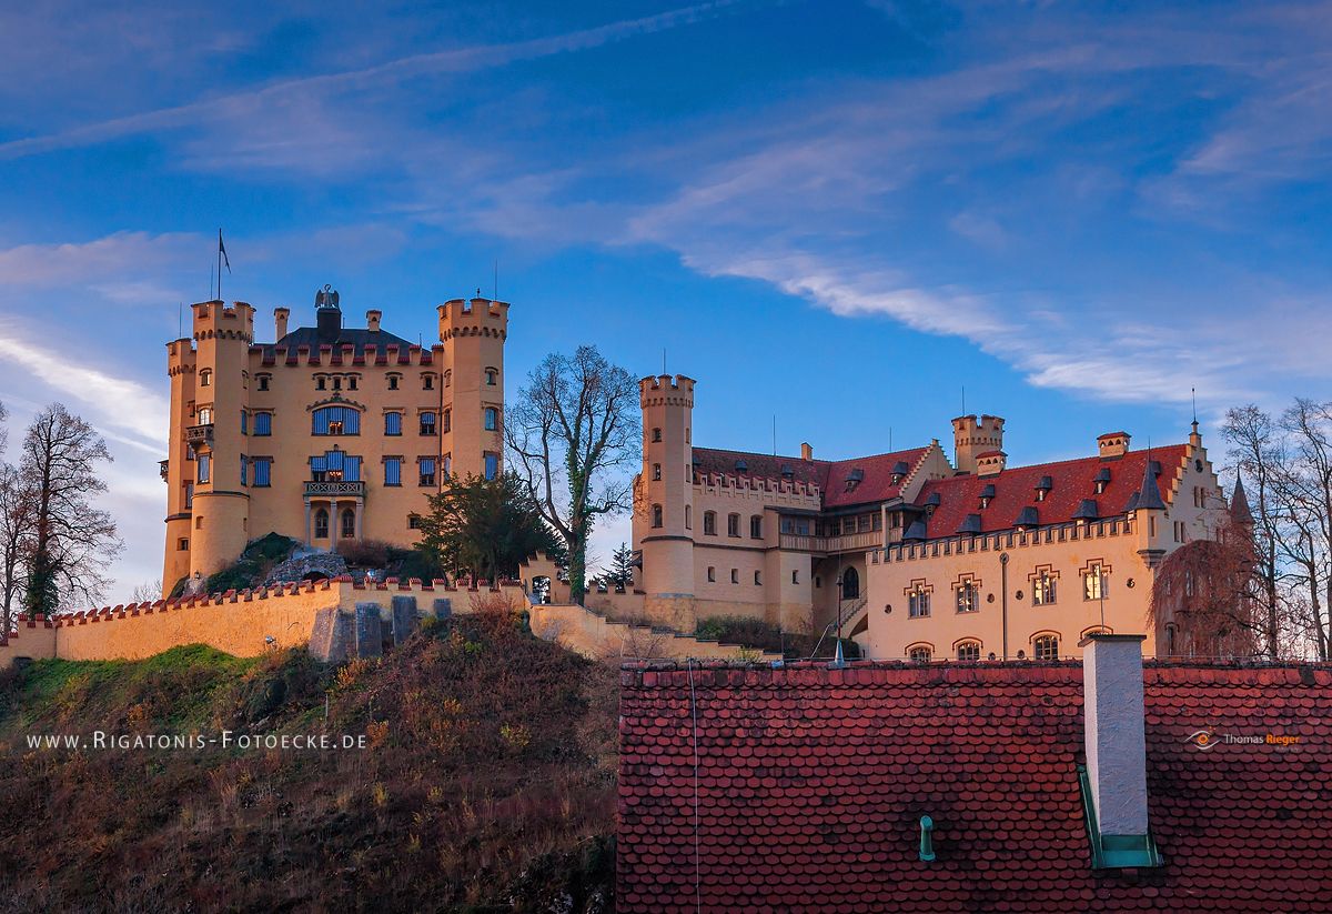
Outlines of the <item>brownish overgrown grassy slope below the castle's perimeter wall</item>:
M0 911L609 910L615 701L613 670L507 617L437 625L342 668L189 646L11 670ZM27 747L28 734L222 729L370 747Z

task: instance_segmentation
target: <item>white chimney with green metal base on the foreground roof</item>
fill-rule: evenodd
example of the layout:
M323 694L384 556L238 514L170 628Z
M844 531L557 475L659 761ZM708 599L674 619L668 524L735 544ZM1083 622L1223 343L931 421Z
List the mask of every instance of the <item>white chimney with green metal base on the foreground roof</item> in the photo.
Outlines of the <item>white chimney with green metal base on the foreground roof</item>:
M1083 649L1087 791L1095 866L1158 866L1147 831L1144 634L1088 634Z

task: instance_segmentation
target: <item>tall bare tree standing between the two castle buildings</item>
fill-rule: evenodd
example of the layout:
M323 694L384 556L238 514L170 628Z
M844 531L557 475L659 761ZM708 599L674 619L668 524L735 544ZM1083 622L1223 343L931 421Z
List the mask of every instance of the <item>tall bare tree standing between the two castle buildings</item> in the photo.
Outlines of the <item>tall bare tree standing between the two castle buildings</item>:
M551 353L509 408L505 442L541 516L569 549L570 598L583 602L587 538L633 505L622 468L638 461L638 385L595 346Z

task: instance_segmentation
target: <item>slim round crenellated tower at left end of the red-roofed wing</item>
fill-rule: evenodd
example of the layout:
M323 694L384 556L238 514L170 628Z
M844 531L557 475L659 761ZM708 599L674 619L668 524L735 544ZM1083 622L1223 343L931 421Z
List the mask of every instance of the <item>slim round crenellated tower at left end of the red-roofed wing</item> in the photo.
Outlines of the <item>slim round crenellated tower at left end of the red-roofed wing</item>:
M677 374L638 382L643 410L643 470L635 525L643 558L647 614L693 630L694 381Z

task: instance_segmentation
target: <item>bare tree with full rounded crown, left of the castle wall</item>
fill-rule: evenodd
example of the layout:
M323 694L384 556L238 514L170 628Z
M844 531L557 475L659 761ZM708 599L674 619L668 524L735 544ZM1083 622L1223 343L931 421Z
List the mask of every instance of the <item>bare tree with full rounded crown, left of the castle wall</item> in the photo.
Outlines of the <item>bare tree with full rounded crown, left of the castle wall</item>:
M96 602L103 569L121 548L111 514L91 498L107 490L99 464L111 461L101 436L63 404L32 420L23 440L20 476L32 500L32 548L24 604L51 614L61 601Z

